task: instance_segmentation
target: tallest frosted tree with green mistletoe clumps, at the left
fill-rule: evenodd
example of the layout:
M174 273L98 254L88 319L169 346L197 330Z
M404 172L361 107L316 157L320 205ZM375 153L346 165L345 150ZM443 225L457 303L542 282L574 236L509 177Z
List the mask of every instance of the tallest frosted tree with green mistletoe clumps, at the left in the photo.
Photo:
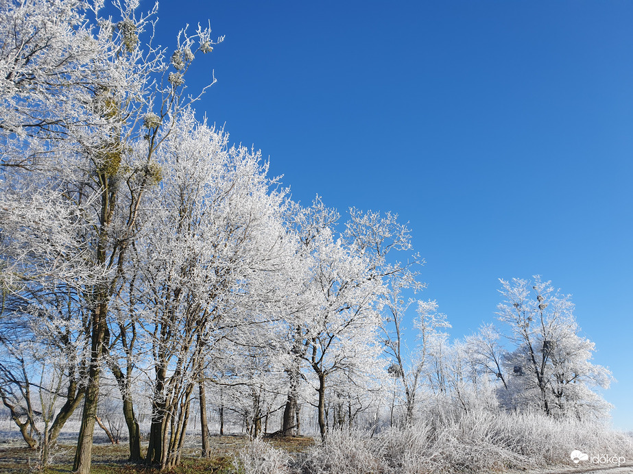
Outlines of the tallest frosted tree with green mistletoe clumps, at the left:
M212 49L208 30L183 32L169 66L163 50L143 45L156 8L138 15L138 2L115 2L113 23L100 6L0 3L3 289L53 289L61 281L86 309L80 473L91 461L108 305L145 191L161 177L153 155L189 101L182 90L191 50ZM161 73L164 82L156 81Z

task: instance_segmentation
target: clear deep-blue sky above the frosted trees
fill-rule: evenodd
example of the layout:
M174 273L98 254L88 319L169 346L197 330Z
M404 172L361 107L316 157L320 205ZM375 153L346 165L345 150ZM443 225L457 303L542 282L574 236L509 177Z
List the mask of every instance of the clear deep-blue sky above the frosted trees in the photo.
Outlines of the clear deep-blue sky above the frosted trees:
M141 1L149 9L153 1ZM158 40L211 21L196 106L294 199L392 210L422 297L461 337L498 278L573 294L616 427L633 429L633 3L167 1Z

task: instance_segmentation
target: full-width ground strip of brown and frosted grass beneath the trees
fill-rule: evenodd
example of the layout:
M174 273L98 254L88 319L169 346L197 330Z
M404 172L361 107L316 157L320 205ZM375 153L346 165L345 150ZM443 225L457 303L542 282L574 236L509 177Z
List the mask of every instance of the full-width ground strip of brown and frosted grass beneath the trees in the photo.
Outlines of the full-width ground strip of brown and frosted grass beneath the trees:
M427 414L413 427L385 429L375 436L361 431L334 431L324 445L304 437L248 440L245 436L212 436L212 456L206 459L200 458L199 443L199 439L192 438L183 453L182 466L171 473L472 474L512 469L542 472L551 466L577 467L569 457L574 449L590 456L603 453L625 456L627 466L633 460L633 438L599 423L486 410L468 414L444 412L442 416ZM157 472L128 464L126 445L95 445L93 452L95 474ZM47 472L69 473L73 454L73 446L59 447ZM0 447L0 473L25 473L36 464L34 451Z

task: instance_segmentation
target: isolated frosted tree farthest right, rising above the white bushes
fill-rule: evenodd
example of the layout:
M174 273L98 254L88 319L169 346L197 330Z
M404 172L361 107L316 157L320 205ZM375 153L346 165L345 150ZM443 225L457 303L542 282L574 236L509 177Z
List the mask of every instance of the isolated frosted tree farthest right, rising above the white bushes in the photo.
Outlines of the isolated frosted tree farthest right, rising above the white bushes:
M612 376L590 362L595 345L579 334L571 295L539 276L532 282L501 280L501 286L505 301L497 314L514 343L504 361L507 403L555 416L604 416L609 405L591 388L607 388Z

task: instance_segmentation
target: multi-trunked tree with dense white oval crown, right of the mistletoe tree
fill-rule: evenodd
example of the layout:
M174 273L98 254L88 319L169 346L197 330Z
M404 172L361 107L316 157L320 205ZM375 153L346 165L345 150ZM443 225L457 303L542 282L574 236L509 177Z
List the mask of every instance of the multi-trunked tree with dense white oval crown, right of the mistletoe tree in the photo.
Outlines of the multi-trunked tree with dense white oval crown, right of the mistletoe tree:
M180 460L193 390L216 345L263 345L261 333L278 318L287 254L283 195L270 190L259 153L229 149L224 133L193 114L176 131L156 154L163 182L151 232L136 242L153 372L147 462L163 468Z

